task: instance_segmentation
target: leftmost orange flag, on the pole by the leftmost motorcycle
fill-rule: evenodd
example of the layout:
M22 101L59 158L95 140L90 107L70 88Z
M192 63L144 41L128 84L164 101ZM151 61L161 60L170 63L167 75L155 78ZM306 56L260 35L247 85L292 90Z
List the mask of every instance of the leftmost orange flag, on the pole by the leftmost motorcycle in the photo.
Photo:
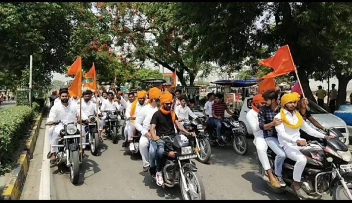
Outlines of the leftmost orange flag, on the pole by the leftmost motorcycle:
M71 86L68 88L70 96L82 96L82 60L78 57L68 70L68 75L76 74Z

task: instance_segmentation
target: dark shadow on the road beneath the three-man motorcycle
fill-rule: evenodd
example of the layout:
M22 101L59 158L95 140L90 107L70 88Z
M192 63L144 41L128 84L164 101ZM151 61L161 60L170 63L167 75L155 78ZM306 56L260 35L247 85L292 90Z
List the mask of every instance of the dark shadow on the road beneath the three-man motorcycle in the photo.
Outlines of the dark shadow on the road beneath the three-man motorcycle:
M285 192L282 194L274 193L270 191L263 180L254 176L254 172L246 172L241 175L242 178L246 179L250 183L252 183L252 191L263 196L269 197L271 200L283 200L283 199L293 199L298 200L299 198L289 192Z

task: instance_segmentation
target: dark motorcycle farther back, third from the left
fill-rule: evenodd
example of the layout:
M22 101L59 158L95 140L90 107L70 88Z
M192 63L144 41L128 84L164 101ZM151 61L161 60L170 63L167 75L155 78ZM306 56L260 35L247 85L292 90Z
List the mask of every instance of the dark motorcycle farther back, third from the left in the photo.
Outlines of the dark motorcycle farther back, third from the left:
M102 111L106 112L106 119L104 124L105 134L111 138L112 143L116 144L119 140L117 131L120 129L118 113L116 111Z

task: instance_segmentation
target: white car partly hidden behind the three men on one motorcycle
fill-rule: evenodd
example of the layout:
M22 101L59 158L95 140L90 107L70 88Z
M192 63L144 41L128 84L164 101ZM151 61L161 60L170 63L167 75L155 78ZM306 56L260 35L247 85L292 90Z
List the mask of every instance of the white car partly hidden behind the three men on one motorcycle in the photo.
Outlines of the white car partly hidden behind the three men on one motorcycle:
M253 135L253 131L250 128L248 121L246 120L246 115L249 110L252 109L251 104L252 104L252 98L253 97L246 97L243 102L243 106L240 111L240 130L242 133L245 135ZM316 103L314 103L312 100L309 100L309 107L311 109L311 114L315 120L317 120L324 128L336 128L338 131L341 132L341 134L344 136L344 140L341 140L345 143L345 145L349 144L349 132L347 129L346 123L338 118L337 116L328 113L325 111L323 108L319 107ZM306 122L312 126L313 128L316 129L316 127L309 121L306 120Z

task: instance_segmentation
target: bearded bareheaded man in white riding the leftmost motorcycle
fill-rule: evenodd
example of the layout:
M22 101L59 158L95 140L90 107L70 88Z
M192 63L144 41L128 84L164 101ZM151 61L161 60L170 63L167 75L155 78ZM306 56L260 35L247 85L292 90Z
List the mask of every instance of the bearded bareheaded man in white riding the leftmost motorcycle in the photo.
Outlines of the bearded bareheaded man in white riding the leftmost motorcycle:
M68 94L68 89L60 89L59 93L61 103L54 104L52 109L50 110L49 117L48 117L48 123L47 125L52 125L56 121L61 121L64 124L68 124L71 122L77 122L77 117L79 118L79 106L75 103L69 100L69 94ZM82 112L82 120L88 121L88 117ZM77 124L77 128L80 129L80 125ZM58 137L60 134L60 131L64 129L64 126L60 123L55 126L53 133L52 133L52 138L51 138L51 145L57 145L59 143ZM83 140L82 142L85 143L85 131L84 128L82 128L82 135L83 135ZM85 145L82 146L83 148ZM58 147L51 147L51 161L55 162L56 161L56 153L58 152Z

